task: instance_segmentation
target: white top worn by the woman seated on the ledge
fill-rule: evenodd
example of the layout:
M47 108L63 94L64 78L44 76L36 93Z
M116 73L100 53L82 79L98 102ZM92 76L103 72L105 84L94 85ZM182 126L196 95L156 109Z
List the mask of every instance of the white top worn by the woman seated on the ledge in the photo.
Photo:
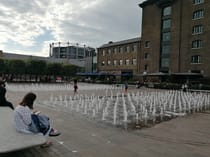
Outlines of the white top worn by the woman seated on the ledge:
M29 107L18 105L14 110L14 123L16 130L23 133L32 133L29 131L31 121L31 110Z

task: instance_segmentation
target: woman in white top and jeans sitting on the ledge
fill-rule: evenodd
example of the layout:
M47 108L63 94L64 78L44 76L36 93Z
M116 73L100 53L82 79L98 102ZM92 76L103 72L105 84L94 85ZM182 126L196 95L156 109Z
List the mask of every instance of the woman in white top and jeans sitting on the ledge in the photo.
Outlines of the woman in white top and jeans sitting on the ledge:
M53 129L49 118L39 115L40 112L33 111L33 103L36 99L34 93L27 93L23 100L14 110L14 124L18 132L42 134L44 136L58 136L60 132ZM50 141L47 142L51 144Z

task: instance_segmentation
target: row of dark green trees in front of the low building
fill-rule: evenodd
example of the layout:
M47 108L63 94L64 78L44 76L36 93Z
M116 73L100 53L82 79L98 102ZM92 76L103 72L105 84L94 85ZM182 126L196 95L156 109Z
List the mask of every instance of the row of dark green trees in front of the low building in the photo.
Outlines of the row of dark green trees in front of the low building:
M43 60L4 60L0 59L0 73L17 75L76 76L81 68L62 63L46 63Z

